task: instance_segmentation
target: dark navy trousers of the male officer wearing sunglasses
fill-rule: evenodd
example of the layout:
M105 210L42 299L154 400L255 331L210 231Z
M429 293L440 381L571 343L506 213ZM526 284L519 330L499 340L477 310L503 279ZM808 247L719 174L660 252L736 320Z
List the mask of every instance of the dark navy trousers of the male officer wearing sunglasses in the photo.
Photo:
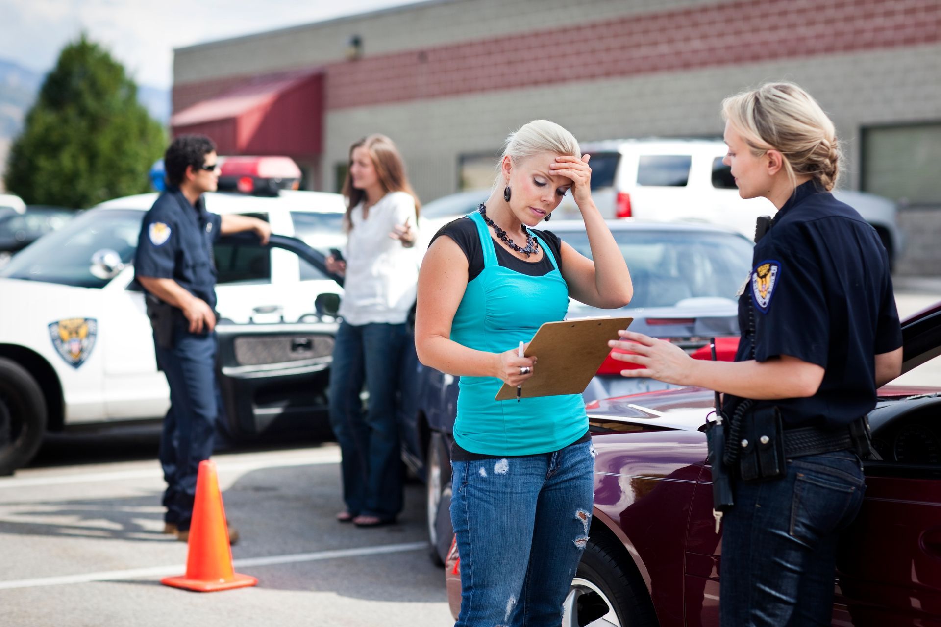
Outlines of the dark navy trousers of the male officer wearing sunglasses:
M167 481L165 521L189 529L199 462L213 452L218 414L214 333L193 334L176 325L173 347L156 347L157 364L167 375L170 409L160 438L160 464Z

